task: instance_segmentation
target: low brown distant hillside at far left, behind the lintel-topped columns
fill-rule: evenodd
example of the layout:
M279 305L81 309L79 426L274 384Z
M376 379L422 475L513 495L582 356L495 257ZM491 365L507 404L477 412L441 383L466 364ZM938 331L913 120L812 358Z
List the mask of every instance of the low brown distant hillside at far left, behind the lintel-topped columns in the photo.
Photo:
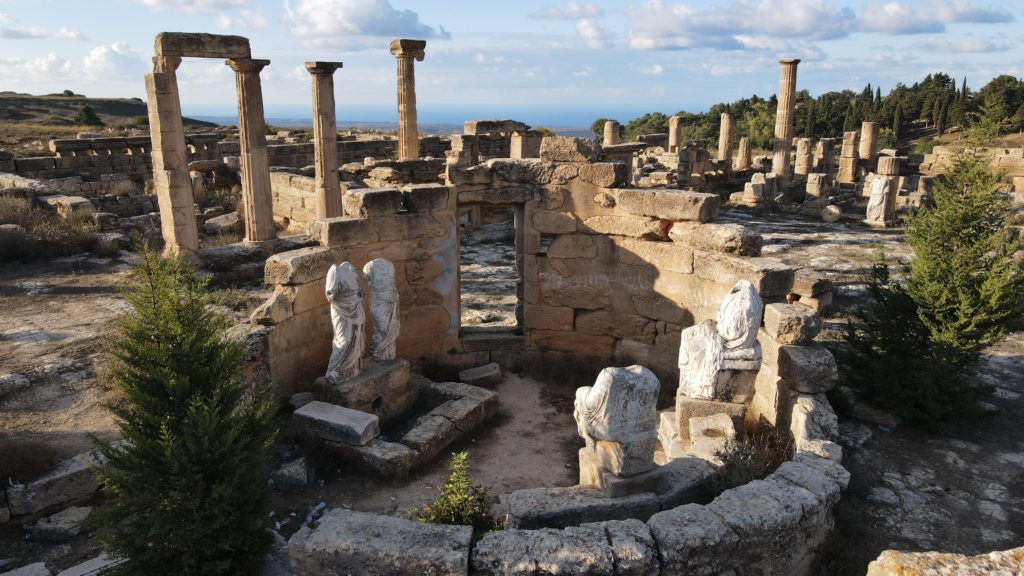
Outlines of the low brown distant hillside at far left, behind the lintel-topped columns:
M35 96L17 92L0 92L0 122L75 126L75 115L82 105L89 105L108 126L133 123L133 119L148 114L140 98L90 98L81 94L47 94ZM186 127L214 127L216 124L184 119Z

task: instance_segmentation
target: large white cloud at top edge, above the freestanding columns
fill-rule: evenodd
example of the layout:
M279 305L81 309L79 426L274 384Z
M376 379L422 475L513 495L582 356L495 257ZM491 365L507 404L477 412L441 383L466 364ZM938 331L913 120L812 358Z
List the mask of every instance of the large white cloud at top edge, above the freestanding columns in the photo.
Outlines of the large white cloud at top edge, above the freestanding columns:
M352 46L366 37L452 37L443 27L427 26L413 10L395 9L388 0L285 0L285 20L293 35L315 46Z

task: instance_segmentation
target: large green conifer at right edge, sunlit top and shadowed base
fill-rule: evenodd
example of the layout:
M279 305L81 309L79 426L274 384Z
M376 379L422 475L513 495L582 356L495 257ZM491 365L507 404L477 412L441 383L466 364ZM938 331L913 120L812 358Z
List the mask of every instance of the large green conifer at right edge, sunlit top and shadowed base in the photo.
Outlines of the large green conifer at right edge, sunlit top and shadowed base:
M1024 310L1021 242L1008 233L997 182L984 158L959 157L935 180L934 205L907 220L914 259L905 283L884 256L872 266L863 324L850 327L840 357L869 402L931 426L976 413L991 393L971 369Z

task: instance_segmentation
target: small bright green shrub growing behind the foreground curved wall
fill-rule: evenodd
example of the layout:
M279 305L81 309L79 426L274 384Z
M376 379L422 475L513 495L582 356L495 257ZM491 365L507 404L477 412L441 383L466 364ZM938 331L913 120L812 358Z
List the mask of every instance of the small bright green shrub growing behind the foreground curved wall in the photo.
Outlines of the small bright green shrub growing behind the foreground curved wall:
M474 538L502 530L503 523L490 516L487 488L474 484L469 474L469 452L453 454L449 470L451 475L437 498L414 510L416 520L427 524L472 526Z

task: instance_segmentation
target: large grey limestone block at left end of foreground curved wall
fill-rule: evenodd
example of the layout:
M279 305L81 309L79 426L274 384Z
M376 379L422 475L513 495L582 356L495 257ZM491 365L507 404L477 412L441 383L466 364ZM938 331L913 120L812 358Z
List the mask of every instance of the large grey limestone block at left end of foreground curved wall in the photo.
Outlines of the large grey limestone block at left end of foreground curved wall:
M468 526L423 524L334 508L315 528L288 541L288 554L306 576L463 575L469 569Z

